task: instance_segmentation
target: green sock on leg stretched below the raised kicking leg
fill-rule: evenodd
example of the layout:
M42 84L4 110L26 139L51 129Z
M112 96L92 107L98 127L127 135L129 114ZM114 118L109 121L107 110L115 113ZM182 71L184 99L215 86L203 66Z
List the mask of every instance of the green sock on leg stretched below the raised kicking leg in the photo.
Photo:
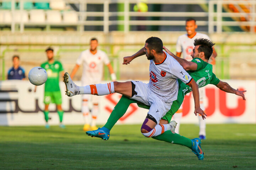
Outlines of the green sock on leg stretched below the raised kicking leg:
M137 101L123 95L114 107L113 111L110 114L110 117L107 120L107 123L103 127L111 130L114 124L117 123L117 120L119 120L124 115L124 113L126 113L130 104L136 102Z

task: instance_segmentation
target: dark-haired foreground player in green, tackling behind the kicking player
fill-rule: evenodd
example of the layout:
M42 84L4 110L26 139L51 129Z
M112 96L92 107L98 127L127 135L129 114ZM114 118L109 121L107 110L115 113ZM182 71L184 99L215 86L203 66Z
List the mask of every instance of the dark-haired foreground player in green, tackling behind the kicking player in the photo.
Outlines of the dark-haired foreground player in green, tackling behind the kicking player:
M197 82L198 87L206 86L207 84L214 84L220 90L223 90L228 93L233 93L238 96L241 96L243 100L245 100L244 92L233 89L228 83L220 81L214 73L212 73L212 65L208 64L209 57L212 55L212 46L214 45L211 41L207 39L196 39L194 41L194 49L191 54L193 57L192 61L186 61L182 58L175 56L169 50L165 49L167 53L173 56L185 70L190 70L188 73L191 77ZM143 55L143 52L137 52L135 55ZM160 120L160 124L167 124L170 122L172 115L178 110L181 106L185 95L191 91L190 87L186 84L182 83L178 80L179 88L178 88L178 97L177 100L172 103L170 111L166 113L166 115ZM128 109L131 103L137 103L137 101L131 100L128 97L122 96L116 107L114 107L110 117L108 118L107 123L98 130L88 131L86 132L90 136L100 137L107 140L110 135L110 130L117 122L119 118L121 118L126 110ZM137 103L139 107L149 108L144 104ZM196 114L196 113L195 113ZM159 136L153 137L156 140L166 141L178 145L186 146L192 149L199 160L202 160L203 152L201 149L201 140L199 138L189 139L179 134L176 134L170 130L165 131Z

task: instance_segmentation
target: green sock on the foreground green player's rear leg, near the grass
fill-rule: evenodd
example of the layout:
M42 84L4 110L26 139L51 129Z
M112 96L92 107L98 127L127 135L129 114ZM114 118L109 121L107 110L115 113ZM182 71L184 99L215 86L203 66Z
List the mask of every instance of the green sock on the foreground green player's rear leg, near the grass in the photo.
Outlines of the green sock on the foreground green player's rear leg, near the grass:
M163 134L161 134L159 136L155 136L153 138L156 140L159 140L159 141L165 141L165 142L169 142L169 143L183 145L190 149L192 148L191 139L181 136L179 134L175 134L174 132L172 132L170 130L167 130Z

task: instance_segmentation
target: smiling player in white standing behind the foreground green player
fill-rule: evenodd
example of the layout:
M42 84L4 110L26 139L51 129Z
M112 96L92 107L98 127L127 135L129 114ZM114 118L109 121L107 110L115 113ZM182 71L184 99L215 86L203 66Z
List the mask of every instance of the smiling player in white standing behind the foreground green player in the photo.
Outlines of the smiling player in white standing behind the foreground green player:
M178 37L177 43L176 43L176 56L181 57L187 61L191 61L192 57L191 57L191 53L193 52L194 49L194 40L195 39L199 39L199 38L206 38L208 40L210 40L209 36L206 34L202 34L202 33L197 33L196 32L197 29L197 24L196 24L196 20L193 18L188 18L186 20L186 31L187 34L183 34L181 36ZM182 54L182 56L181 56ZM211 56L212 59L212 63L211 64L215 64L215 57L217 56L216 51L213 48L213 54ZM199 96L200 96L200 107L204 109L204 92L205 92L205 88L202 87L199 89ZM175 129L175 132L177 134L180 133L179 129L180 129L180 120L182 117L182 105L180 107L180 109L176 112L177 114L174 114L173 119L177 122L177 126ZM205 139L206 138L206 120L203 120L202 117L199 115L198 116L198 120L199 120L199 138L200 139Z

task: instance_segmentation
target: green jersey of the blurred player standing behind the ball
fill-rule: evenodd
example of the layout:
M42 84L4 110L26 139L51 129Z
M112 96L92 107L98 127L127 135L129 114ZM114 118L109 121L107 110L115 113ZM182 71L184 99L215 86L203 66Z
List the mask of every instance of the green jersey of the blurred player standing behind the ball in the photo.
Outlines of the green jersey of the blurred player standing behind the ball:
M49 63L48 61L41 64L47 72L47 81L44 86L44 91L60 91L59 88L59 73L64 69L59 61Z

